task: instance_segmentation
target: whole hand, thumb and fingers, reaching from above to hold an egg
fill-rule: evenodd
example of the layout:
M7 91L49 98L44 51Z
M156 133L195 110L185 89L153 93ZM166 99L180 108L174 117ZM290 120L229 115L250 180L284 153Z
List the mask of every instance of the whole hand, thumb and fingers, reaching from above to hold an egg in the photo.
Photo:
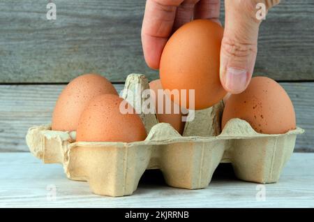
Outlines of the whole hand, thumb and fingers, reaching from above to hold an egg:
M257 3L266 13L280 0L225 0L225 31L220 48L220 82L231 94L248 87L257 54L262 20L256 17ZM219 22L220 0L147 0L142 24L144 58L158 69L163 47L181 25L193 19Z

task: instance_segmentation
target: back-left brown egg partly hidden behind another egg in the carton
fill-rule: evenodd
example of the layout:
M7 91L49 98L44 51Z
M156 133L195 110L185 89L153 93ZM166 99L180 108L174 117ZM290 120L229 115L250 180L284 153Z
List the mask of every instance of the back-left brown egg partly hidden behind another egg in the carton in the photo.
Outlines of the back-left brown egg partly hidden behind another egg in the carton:
M52 114L53 131L75 131L89 101L100 94L115 94L111 82L98 74L76 77L61 92Z

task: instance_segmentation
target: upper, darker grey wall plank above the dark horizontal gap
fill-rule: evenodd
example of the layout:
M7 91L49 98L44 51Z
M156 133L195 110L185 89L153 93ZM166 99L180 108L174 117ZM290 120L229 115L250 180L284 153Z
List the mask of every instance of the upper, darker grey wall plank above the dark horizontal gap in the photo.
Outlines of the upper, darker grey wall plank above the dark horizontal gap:
M46 19L46 2L0 0L0 82L68 82L88 72L113 82L128 73L158 76L142 56L145 0L54 0L55 21ZM269 11L255 75L314 79L313 12L313 0L282 1Z

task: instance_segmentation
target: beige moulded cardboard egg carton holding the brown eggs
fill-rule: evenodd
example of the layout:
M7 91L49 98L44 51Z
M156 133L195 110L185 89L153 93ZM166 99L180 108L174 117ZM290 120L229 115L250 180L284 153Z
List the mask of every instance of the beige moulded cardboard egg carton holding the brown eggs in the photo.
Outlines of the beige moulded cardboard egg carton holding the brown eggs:
M140 88L138 88L140 86ZM131 74L122 97L135 110L140 99L130 91L149 89L144 75ZM301 128L281 135L257 133L248 122L230 119L220 131L223 102L195 111L183 136L159 123L155 114L140 112L148 135L140 142L75 142L75 132L33 126L27 133L31 153L44 163L61 163L69 179L87 181L98 195L131 195L147 169L160 169L169 186L197 189L209 185L219 163L232 163L235 175L261 184L278 182Z

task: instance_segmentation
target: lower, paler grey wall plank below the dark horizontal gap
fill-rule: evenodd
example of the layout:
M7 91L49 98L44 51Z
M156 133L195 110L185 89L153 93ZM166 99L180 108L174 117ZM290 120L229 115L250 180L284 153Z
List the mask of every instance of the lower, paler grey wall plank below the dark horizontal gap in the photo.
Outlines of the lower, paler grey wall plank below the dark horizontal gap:
M0 151L28 151L27 129L51 122L52 110L63 84L29 84L0 86ZM117 91L123 84L115 84ZM297 124L306 133L297 139L297 151L314 151L314 84L282 83L297 112ZM309 94L311 92L312 94Z

